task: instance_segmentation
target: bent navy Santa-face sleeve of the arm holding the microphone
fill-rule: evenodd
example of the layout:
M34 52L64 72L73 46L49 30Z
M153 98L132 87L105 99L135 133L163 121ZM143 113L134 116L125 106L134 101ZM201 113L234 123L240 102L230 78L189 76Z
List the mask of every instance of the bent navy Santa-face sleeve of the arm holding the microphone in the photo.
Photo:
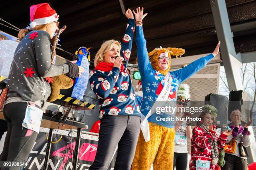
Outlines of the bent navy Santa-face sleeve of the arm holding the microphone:
M102 99L109 96L110 91L115 86L118 79L120 69L113 67L109 74L104 74L97 70L92 70L89 74L89 81L92 91Z

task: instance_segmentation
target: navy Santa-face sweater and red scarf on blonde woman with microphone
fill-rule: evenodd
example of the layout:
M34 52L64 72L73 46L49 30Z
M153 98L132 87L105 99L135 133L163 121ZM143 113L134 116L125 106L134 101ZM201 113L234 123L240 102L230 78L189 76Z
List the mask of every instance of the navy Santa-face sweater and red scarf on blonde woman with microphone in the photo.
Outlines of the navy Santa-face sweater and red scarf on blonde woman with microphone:
M94 70L90 71L89 81L91 89L100 100L100 119L107 115L141 116L131 77L127 71L133 35L134 20L129 19L125 35L121 41L120 55L126 61L126 64L123 64L121 69L113 67L109 71L108 68L105 68L104 64L99 63Z

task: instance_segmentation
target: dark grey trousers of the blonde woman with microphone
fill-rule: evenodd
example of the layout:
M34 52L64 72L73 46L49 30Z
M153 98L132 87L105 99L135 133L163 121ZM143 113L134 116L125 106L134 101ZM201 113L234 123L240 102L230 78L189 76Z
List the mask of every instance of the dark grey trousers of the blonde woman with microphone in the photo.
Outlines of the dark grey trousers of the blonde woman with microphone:
M100 120L99 142L89 170L107 170L118 145L115 170L130 170L140 133L138 116L105 116Z

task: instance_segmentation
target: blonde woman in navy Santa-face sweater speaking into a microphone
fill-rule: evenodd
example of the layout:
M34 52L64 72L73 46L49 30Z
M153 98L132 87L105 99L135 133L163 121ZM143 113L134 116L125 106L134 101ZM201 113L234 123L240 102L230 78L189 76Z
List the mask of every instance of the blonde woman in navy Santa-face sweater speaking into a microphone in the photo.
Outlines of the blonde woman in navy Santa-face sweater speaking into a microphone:
M127 71L134 18L130 9L125 15L129 21L121 45L115 40L105 41L96 54L95 69L89 74L91 89L100 99L99 142L90 170L107 169L117 145L115 170L130 170L135 154L141 112Z

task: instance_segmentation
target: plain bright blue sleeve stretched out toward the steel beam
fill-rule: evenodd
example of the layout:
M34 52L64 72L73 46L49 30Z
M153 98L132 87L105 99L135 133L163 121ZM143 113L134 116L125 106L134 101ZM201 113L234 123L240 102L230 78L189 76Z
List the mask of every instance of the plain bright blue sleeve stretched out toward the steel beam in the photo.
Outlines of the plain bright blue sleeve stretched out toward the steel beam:
M176 75L179 83L182 83L183 81L187 80L190 76L195 74L197 71L204 68L206 64L212 60L212 58L214 58L214 56L211 53L208 56L193 61L188 66L182 69L173 71L172 74Z

